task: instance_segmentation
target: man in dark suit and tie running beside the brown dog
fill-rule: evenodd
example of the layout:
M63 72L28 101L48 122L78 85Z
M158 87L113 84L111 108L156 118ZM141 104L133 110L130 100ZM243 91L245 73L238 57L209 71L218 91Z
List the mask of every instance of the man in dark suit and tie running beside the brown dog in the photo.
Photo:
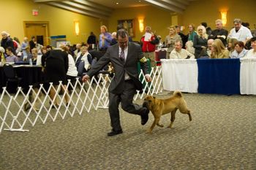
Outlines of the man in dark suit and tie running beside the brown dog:
M118 105L121 102L121 107L124 111L134 115L140 115L141 124L145 125L148 121L148 109L141 107L138 104L133 104L133 96L136 90L141 90L143 85L139 80L138 61L143 64L143 72L147 82L151 82L149 68L146 63L146 58L140 49L140 45L129 42L127 31L119 29L117 31L116 45L108 47L107 52L102 58L97 61L94 67L83 77L83 82L89 80L103 66L111 62L115 69L115 77L111 81L109 91L109 113L112 131L108 136L114 136L123 133L121 129Z

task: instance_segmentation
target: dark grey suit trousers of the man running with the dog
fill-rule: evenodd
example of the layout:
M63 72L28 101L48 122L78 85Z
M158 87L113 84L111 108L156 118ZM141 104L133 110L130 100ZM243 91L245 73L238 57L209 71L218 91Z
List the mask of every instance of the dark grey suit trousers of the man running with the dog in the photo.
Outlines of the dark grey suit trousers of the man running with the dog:
M125 112L129 112L134 115L142 115L145 112L144 107L138 104L133 104L132 100L135 96L136 88L135 83L132 80L127 80L124 82L124 91L120 94L115 94L109 92L109 114L110 122L113 131L121 130L120 115L118 106L121 103L121 108Z

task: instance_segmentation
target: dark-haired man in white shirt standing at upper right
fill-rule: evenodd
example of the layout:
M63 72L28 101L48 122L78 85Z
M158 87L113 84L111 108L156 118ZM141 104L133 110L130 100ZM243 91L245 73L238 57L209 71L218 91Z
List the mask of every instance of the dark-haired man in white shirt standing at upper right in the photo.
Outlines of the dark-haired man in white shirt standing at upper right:
M233 23L234 28L230 30L230 34L227 37L230 39L238 39L238 41L244 42L245 45L246 42L252 38L251 31L249 28L242 26L240 19L235 19Z

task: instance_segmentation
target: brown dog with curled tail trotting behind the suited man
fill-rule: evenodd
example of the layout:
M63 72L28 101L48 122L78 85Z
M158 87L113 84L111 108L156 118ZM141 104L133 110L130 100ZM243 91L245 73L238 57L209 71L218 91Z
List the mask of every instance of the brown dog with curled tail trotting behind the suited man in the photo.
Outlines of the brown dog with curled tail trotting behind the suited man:
M148 133L152 133L155 125L163 127L164 125L159 124L160 117L167 113L171 113L170 125L171 128L175 120L175 114L177 109L184 114L189 115L189 121L192 120L189 109L187 109L187 103L184 100L180 91L175 91L173 96L166 99L159 99L154 96L146 96L144 98L143 107L147 107L154 115L154 123L148 129Z

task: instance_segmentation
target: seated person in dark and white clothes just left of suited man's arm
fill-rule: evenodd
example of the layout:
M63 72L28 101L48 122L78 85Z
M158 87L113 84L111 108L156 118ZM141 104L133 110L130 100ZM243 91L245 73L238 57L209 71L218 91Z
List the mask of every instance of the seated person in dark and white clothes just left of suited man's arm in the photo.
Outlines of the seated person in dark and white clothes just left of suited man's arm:
M78 58L75 60L75 66L78 69L78 75L82 75L85 72L88 72L91 69L91 54L88 52L88 45L81 47L81 53L78 55Z

